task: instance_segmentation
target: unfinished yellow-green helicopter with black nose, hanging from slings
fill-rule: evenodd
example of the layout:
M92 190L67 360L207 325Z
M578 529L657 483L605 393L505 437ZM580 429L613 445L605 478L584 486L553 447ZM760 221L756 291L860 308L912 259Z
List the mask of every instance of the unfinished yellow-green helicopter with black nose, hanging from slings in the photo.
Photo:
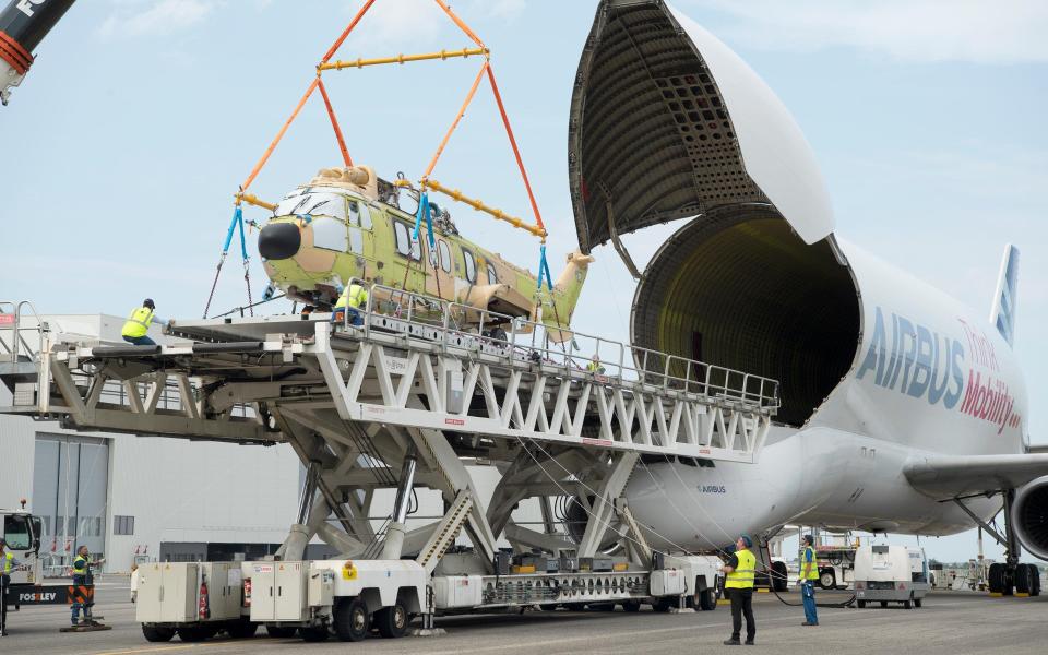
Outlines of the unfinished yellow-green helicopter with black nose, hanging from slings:
M413 239L418 202L416 189L380 179L368 166L321 169L285 195L262 226L265 272L275 288L319 309L334 303L340 287L362 279L549 327L569 326L592 257L570 253L552 291L536 293L535 275L463 238L449 212L432 202L436 246L425 230ZM398 300L390 290L376 296L380 302ZM483 311L465 311L461 320L492 321ZM569 335L550 333L556 341Z

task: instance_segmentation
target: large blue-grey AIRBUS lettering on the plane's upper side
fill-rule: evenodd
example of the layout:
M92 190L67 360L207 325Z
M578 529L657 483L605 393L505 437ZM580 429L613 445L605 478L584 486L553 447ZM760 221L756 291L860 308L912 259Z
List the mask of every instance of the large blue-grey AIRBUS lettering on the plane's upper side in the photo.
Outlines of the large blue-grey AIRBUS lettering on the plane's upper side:
M952 409L964 391L964 345L895 313L885 321L877 307L870 347L856 378L869 374L878 386Z

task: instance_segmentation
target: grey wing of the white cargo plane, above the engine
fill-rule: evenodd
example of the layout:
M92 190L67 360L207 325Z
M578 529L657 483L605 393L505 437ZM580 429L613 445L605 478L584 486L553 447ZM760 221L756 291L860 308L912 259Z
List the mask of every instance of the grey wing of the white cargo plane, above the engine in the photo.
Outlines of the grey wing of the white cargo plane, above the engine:
M945 500L1014 489L1048 475L1048 453L915 457L903 467L903 474L918 491Z

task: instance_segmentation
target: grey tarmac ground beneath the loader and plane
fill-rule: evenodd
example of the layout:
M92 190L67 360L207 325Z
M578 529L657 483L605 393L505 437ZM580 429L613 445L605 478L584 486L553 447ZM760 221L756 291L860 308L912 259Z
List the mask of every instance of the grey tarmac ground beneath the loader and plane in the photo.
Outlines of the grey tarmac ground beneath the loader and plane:
M301 655L345 653L405 653L418 655L540 653L734 653L726 647L731 615L722 605L714 611L658 614L645 606L640 612L533 611L513 615L438 617L446 630L440 636L373 639L347 644L332 639L305 643L300 639L271 639L264 629L248 640L217 638L203 643L150 643L134 621L134 605L126 582L102 583L96 588L95 614L112 626L106 632L59 633L69 624L66 607L24 607L8 614L10 636L0 639L0 653L33 655L130 655L182 653L223 655L277 655L294 650ZM823 592L820 602L837 602L848 592ZM784 594L800 603L797 593ZM806 628L803 610L782 604L774 594L754 595L757 645L742 652L802 650L831 653L909 652L932 653L1032 653L1048 643L1048 596L991 598L982 593L934 592L920 609L900 606L866 609L820 608L820 626Z

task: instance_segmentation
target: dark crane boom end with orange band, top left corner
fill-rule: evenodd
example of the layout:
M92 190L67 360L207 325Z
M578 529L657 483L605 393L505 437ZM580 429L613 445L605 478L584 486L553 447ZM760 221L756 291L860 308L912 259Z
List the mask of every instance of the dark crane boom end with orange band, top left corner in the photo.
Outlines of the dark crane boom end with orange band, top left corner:
M33 50L74 0L11 0L0 12L0 102L22 83L33 66Z

